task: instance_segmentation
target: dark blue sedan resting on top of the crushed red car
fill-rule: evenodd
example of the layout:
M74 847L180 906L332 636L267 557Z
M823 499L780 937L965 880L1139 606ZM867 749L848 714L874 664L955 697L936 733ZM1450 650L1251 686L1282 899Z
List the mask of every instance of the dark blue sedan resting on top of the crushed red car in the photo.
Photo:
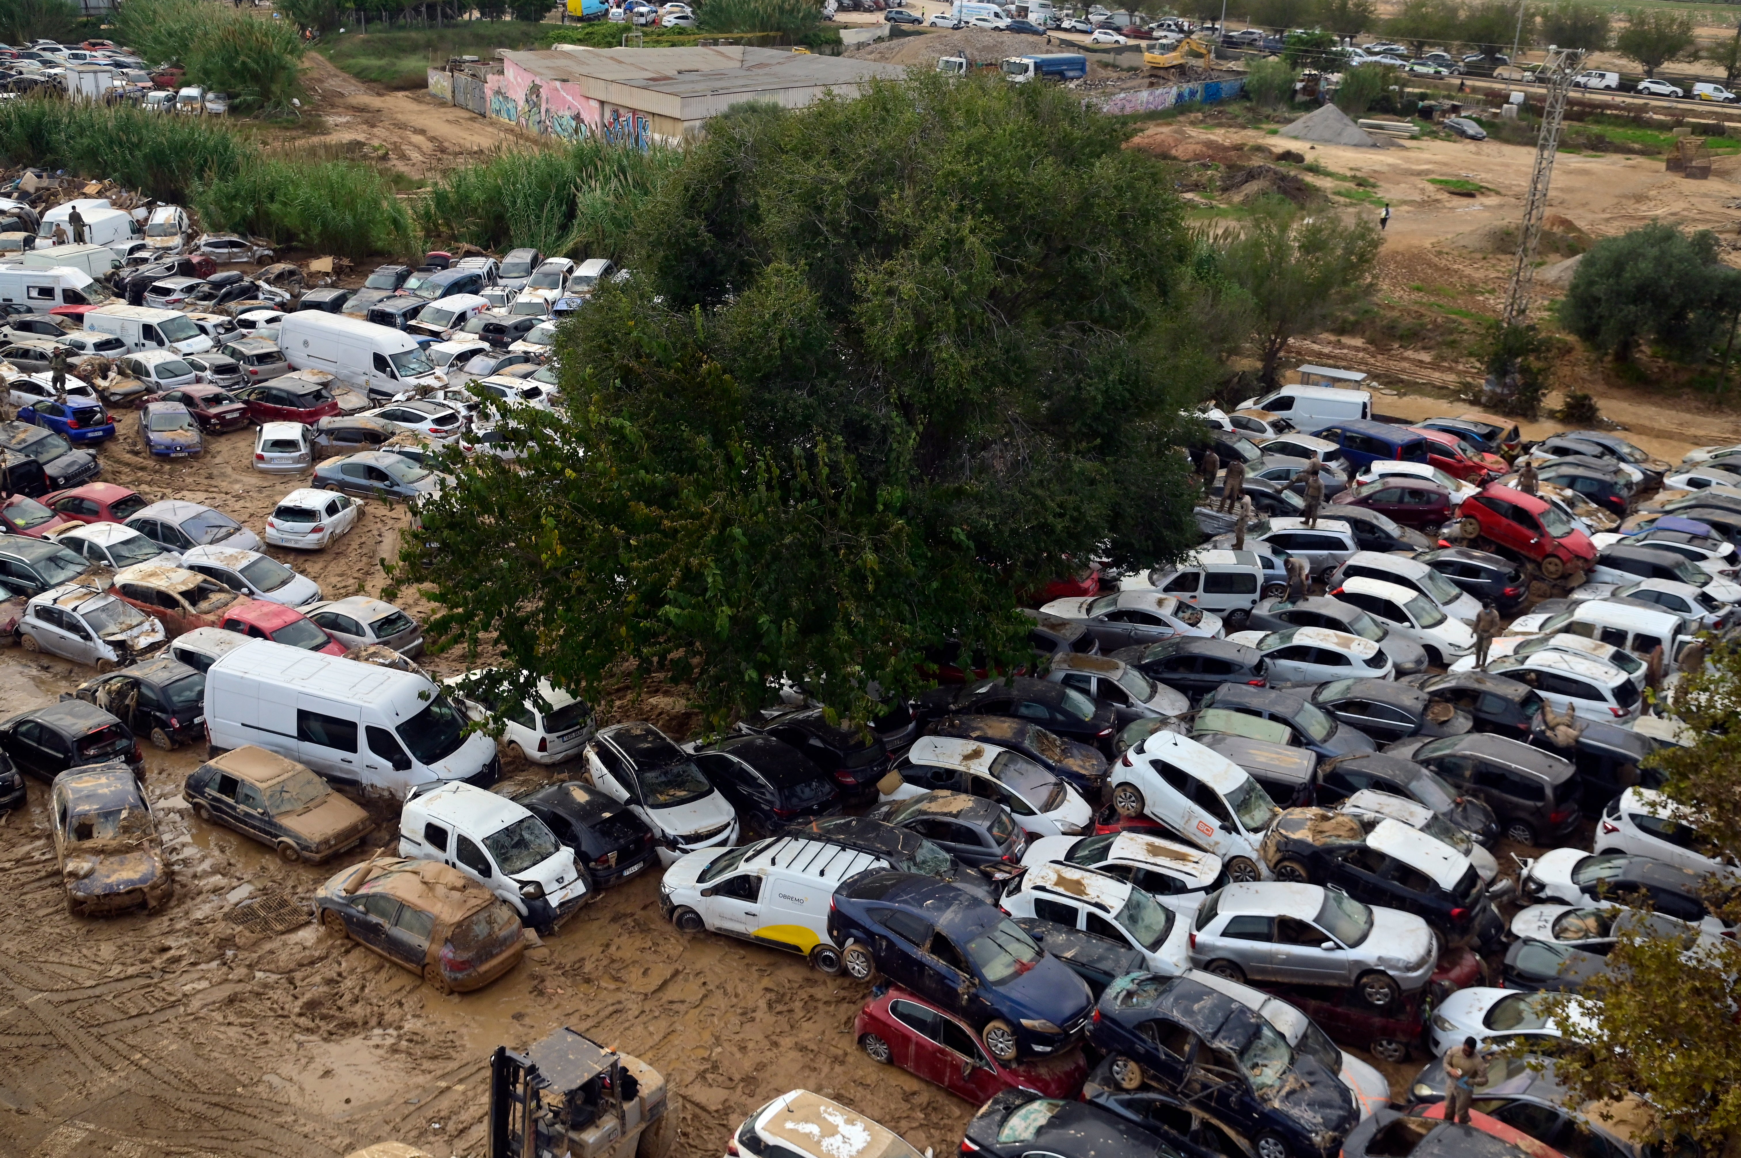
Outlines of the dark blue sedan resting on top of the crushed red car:
M841 881L829 937L851 977L881 973L959 1013L1001 1062L1064 1052L1093 1012L1088 984L1001 909L930 876Z

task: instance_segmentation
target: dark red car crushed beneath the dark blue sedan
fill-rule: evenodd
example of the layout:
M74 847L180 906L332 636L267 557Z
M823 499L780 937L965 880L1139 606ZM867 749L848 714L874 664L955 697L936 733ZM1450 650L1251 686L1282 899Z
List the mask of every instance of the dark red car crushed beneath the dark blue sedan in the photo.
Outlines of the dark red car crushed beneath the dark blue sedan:
M870 1060L900 1066L975 1106L1017 1088L1046 1097L1076 1097L1088 1076L1081 1050L1032 1066L1005 1066L980 1048L966 1022L905 989L890 987L870 998L858 1010L853 1036Z

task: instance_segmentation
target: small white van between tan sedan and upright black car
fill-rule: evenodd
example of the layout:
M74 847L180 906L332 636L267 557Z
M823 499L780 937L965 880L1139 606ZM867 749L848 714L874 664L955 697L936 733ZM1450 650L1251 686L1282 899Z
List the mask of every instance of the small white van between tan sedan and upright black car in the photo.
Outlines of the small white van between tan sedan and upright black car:
M522 805L463 780L413 791L399 811L399 855L460 869L545 935L587 900L573 848Z

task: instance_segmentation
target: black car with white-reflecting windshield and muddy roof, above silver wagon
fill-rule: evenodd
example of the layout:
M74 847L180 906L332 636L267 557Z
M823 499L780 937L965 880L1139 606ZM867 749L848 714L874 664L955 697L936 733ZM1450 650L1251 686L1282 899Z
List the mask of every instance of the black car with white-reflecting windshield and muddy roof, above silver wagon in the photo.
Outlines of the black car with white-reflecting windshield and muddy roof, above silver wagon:
M1457 862L1431 855L1443 850L1398 820L1288 808L1264 832L1259 855L1278 881L1325 885L1368 906L1414 912L1450 939L1473 935L1496 946L1506 923L1487 886L1466 860L1452 879Z

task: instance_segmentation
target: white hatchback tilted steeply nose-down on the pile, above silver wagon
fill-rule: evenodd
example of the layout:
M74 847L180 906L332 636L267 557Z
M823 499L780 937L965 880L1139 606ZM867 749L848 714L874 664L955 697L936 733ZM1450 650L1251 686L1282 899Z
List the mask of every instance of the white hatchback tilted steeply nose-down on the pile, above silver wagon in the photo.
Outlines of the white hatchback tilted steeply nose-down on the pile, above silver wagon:
M1227 879L1255 881L1267 872L1257 845L1281 810L1226 756L1177 731L1156 731L1112 764L1109 782L1121 817L1146 815L1215 853Z

